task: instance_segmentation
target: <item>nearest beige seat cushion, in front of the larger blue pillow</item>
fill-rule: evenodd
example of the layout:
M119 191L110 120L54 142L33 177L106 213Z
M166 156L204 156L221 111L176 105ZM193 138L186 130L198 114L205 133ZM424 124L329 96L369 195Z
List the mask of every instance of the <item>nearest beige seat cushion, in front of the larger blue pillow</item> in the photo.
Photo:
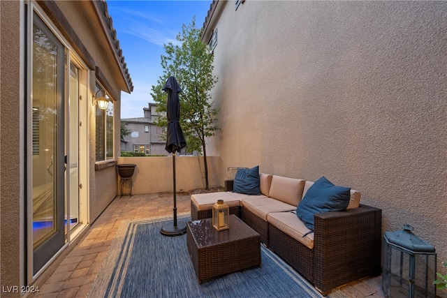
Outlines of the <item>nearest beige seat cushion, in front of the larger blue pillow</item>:
M314 233L292 211L269 213L267 221L308 248L314 248Z

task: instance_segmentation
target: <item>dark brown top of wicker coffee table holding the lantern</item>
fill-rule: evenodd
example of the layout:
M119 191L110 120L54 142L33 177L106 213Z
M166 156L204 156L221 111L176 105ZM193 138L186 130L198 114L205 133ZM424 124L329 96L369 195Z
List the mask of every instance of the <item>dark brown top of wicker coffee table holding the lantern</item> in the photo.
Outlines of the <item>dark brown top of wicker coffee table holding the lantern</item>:
M186 223L188 226L187 232L191 232L198 248L259 237L258 232L250 228L249 225L234 214L230 214L228 220L230 221L230 228L221 231L217 231L212 227L212 218L189 221Z

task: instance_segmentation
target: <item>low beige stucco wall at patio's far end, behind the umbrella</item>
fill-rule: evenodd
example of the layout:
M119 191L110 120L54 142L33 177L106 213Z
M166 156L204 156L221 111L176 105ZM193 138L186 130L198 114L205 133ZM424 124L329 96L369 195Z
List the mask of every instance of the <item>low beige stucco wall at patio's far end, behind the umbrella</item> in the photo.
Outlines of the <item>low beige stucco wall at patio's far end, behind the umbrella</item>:
M119 157L118 164L122 163L136 165L132 177L133 195L173 191L172 156ZM219 157L208 156L207 164L209 186L223 186L223 180L219 179ZM203 156L176 156L175 173L177 191L205 188Z

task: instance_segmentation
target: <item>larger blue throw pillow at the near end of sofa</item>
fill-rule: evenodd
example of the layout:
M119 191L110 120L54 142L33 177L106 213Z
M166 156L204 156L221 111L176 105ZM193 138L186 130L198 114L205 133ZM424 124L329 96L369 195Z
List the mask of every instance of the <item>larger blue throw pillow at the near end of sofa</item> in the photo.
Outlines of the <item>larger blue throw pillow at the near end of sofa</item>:
M296 209L296 215L309 230L314 230L314 214L326 211L342 211L349 205L351 188L335 186L321 177L309 187Z

